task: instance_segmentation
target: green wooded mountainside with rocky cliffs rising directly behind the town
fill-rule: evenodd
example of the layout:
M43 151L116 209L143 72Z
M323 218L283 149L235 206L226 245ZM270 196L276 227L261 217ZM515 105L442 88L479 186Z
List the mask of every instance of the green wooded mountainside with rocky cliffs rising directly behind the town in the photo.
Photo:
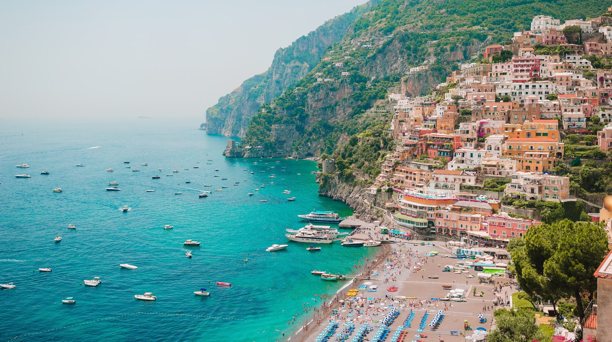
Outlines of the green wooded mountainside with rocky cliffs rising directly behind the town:
M605 7L597 0L383 0L308 75L259 109L241 144L261 146L258 156L330 153L347 136L380 124L364 120L364 113L390 89L419 95L457 68L455 62L529 29L534 15L586 18ZM424 62L427 73L405 76Z

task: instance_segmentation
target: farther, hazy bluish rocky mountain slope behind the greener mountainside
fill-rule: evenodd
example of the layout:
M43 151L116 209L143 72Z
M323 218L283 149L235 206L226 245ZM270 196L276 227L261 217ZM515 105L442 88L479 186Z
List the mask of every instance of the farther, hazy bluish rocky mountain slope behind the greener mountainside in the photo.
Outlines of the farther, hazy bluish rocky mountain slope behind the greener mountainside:
M379 2L370 0L354 7L351 12L337 16L298 38L287 48L278 49L268 70L242 82L240 87L206 110L207 133L244 136L250 118L261 104L274 100L304 78L321 60L327 47L339 42L348 27Z

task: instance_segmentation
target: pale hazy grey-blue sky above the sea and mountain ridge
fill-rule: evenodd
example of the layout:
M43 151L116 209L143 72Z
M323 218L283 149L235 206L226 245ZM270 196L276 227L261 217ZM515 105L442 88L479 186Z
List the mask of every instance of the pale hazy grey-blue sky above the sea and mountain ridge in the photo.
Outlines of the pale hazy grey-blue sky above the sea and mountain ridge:
M0 0L0 118L203 118L366 0Z

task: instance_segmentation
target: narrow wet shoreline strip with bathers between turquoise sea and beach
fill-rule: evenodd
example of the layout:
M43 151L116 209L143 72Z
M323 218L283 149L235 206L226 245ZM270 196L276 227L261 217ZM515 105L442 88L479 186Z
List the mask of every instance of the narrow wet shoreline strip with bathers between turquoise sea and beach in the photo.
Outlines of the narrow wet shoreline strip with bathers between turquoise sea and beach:
M289 336L287 338L287 341L311 340L310 337L318 333L318 330L316 329L316 327L318 326L317 321L319 321L319 319L321 321L324 321L327 317L329 317L329 315L334 311L334 309L339 308L340 307L339 300L345 298L346 293L348 293L349 289L359 286L366 281L366 280L357 280L355 277L367 278L368 274L370 274L371 269L376 268L376 266L383 264L384 261L387 260L387 257L389 257L395 244L383 244L381 246L383 247L384 250L376 254L376 257L374 258L374 260L368 260L369 262L364 263L364 266L362 266L362 268L360 269L361 272L359 272L359 274L355 275L349 282L346 282L345 285L343 285L340 289L338 289L338 291L336 291L336 293L334 294L334 296L331 298L329 302L324 301L323 304L321 304L321 306L318 307L318 313L315 313L312 319L309 319L308 322L304 324L304 326L302 326L299 330L297 330L297 332Z

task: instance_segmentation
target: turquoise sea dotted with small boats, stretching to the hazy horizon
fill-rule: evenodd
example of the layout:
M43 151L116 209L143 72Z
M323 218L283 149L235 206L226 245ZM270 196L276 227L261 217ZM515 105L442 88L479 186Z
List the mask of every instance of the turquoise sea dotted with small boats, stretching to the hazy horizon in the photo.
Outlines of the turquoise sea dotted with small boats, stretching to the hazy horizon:
M286 240L285 228L303 227L296 215L313 208L343 216L351 210L316 194L314 162L225 159L226 138L207 136L197 125L0 121L0 283L18 286L0 291L0 341L37 332L18 340L276 341L312 318L308 313L287 324L301 313L302 302L315 304L315 294L334 293L341 284L310 271L352 272L365 249L336 243L307 252L307 244ZM126 169L125 160L140 172ZM143 160L148 166L140 166ZM29 169L15 167L21 163ZM50 175L40 175L43 170ZM14 177L21 173L32 178ZM277 178L268 178L271 173ZM110 181L122 191L105 191ZM266 187L254 191L261 184ZM214 191L222 185L228 187ZM52 192L54 187L64 192ZM295 202L286 201L285 189ZM212 194L198 198L202 190ZM122 213L124 205L132 209ZM174 229L164 230L166 224ZM54 243L58 234L62 241ZM190 248L192 259L185 257L185 239L202 242ZM289 247L265 252L274 243ZM138 269L122 269L121 263ZM96 276L99 286L81 285ZM194 296L200 288L211 296ZM157 300L133 298L145 292ZM65 297L74 297L76 305L62 305Z

